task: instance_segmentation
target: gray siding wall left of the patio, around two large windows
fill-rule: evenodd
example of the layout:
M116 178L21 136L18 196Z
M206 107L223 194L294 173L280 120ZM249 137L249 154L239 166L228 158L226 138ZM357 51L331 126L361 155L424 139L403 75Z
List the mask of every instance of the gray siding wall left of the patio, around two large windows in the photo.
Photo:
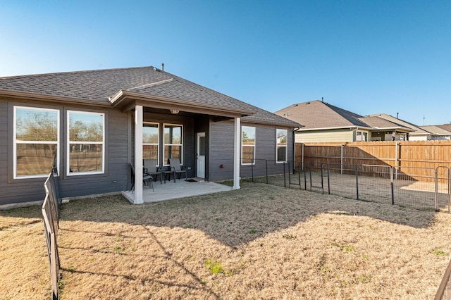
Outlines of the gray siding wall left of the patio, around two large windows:
M61 196L83 196L126 189L128 181L127 113L114 109L82 106L55 106L44 101L4 101L0 99L0 159L8 162L0 168L0 205L42 201L46 178L13 179L13 106L53 108L60 110L60 163L58 165ZM66 111L98 111L105 113L105 173L66 175ZM50 171L50 170L49 170Z

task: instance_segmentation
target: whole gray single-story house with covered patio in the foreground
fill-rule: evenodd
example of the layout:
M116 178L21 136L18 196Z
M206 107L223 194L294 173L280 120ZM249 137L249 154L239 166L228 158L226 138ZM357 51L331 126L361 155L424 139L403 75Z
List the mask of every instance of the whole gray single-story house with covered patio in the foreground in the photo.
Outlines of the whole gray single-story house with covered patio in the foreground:
M125 191L143 158L180 158L188 177L239 189L265 165L252 158L269 173L294 161L299 127L154 67L1 77L0 115L0 204L43 200L53 165L63 197Z

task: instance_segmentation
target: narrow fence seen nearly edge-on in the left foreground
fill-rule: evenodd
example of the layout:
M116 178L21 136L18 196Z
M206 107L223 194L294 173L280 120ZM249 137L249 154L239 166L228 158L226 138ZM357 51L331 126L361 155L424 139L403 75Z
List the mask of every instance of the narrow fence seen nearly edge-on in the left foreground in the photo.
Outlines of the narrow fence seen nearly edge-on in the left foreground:
M59 299L58 279L59 279L59 256L56 237L59 230L59 206L61 198L59 196L58 177L54 170L44 182L46 196L42 204L42 217L44 218L44 233L47 242L47 254L50 262L51 298Z

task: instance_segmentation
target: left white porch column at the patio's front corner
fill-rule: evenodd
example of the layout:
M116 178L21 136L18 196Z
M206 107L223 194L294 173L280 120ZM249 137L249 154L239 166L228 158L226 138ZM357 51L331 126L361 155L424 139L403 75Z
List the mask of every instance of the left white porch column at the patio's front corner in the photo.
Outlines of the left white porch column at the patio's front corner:
M143 204L142 199L142 106L135 106L135 204Z

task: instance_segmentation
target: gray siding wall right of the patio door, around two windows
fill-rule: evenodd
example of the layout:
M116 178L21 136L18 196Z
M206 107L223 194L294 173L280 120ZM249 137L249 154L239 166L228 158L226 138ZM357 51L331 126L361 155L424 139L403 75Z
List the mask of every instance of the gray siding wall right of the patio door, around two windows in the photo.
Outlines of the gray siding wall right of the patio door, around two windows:
M283 173L283 163L276 163L276 129L288 131L288 161L290 161L290 168L292 168L294 161L293 128L252 123L242 123L241 125L256 127L256 162L252 166L240 165L240 176L242 178L251 177L252 169L254 176L266 175L266 161L268 161L269 175ZM233 179L233 128L233 121L211 123L209 169L211 181ZM221 164L224 164L225 168L219 168Z

